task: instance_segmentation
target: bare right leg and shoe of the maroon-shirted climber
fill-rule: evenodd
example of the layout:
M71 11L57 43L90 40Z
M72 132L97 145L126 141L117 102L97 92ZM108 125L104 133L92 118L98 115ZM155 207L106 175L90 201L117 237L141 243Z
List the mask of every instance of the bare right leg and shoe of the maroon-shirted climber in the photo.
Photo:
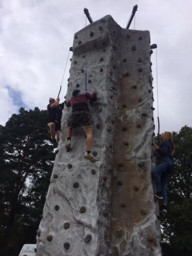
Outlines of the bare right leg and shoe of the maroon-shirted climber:
M84 133L86 134L86 153L84 153L84 158L89 159L92 162L98 161L98 158L94 157L91 153L92 143L93 143L93 132L92 127L83 128Z

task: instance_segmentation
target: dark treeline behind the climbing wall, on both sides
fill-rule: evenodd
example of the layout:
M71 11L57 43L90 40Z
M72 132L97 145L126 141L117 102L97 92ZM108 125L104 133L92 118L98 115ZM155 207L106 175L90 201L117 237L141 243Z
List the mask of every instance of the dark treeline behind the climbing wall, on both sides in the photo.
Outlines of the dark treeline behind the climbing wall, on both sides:
M167 185L168 212L161 218L165 256L192 254L192 128L173 133L175 171ZM21 108L0 126L0 255L18 255L36 243L53 168L47 111Z

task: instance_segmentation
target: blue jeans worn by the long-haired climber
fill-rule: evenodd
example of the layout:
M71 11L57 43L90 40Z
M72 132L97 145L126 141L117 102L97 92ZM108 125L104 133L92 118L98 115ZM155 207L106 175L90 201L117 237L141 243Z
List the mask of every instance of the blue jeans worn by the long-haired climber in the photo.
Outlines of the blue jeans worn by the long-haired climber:
M157 191L161 192L163 203L167 203L167 194L165 185L167 184L170 174L173 170L173 162L169 158L163 158L163 162L158 164L152 170L152 176L155 181Z

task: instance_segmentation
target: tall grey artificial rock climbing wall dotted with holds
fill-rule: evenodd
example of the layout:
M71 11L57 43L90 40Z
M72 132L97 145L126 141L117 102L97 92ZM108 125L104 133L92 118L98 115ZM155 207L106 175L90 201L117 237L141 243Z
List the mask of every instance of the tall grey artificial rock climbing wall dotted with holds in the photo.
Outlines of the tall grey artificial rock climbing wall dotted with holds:
M151 169L154 133L150 33L119 27L108 15L77 32L68 79L73 90L97 91L90 104L93 154L73 132L66 151L67 119L42 220L37 256L161 255Z

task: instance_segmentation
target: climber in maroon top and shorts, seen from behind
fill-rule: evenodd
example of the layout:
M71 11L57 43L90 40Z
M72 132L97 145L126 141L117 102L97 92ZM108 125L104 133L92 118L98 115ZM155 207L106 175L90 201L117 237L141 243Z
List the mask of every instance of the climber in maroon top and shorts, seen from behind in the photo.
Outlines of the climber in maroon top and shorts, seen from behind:
M97 92L93 91L92 94L90 94L88 92L81 93L79 90L75 90L72 95L73 96L68 101L65 101L68 108L72 106L72 115L68 119L66 148L71 147L72 129L76 129L81 126L87 136L86 153L84 153L83 157L95 162L98 159L91 153L93 142L93 121L89 112L88 100L96 101Z

